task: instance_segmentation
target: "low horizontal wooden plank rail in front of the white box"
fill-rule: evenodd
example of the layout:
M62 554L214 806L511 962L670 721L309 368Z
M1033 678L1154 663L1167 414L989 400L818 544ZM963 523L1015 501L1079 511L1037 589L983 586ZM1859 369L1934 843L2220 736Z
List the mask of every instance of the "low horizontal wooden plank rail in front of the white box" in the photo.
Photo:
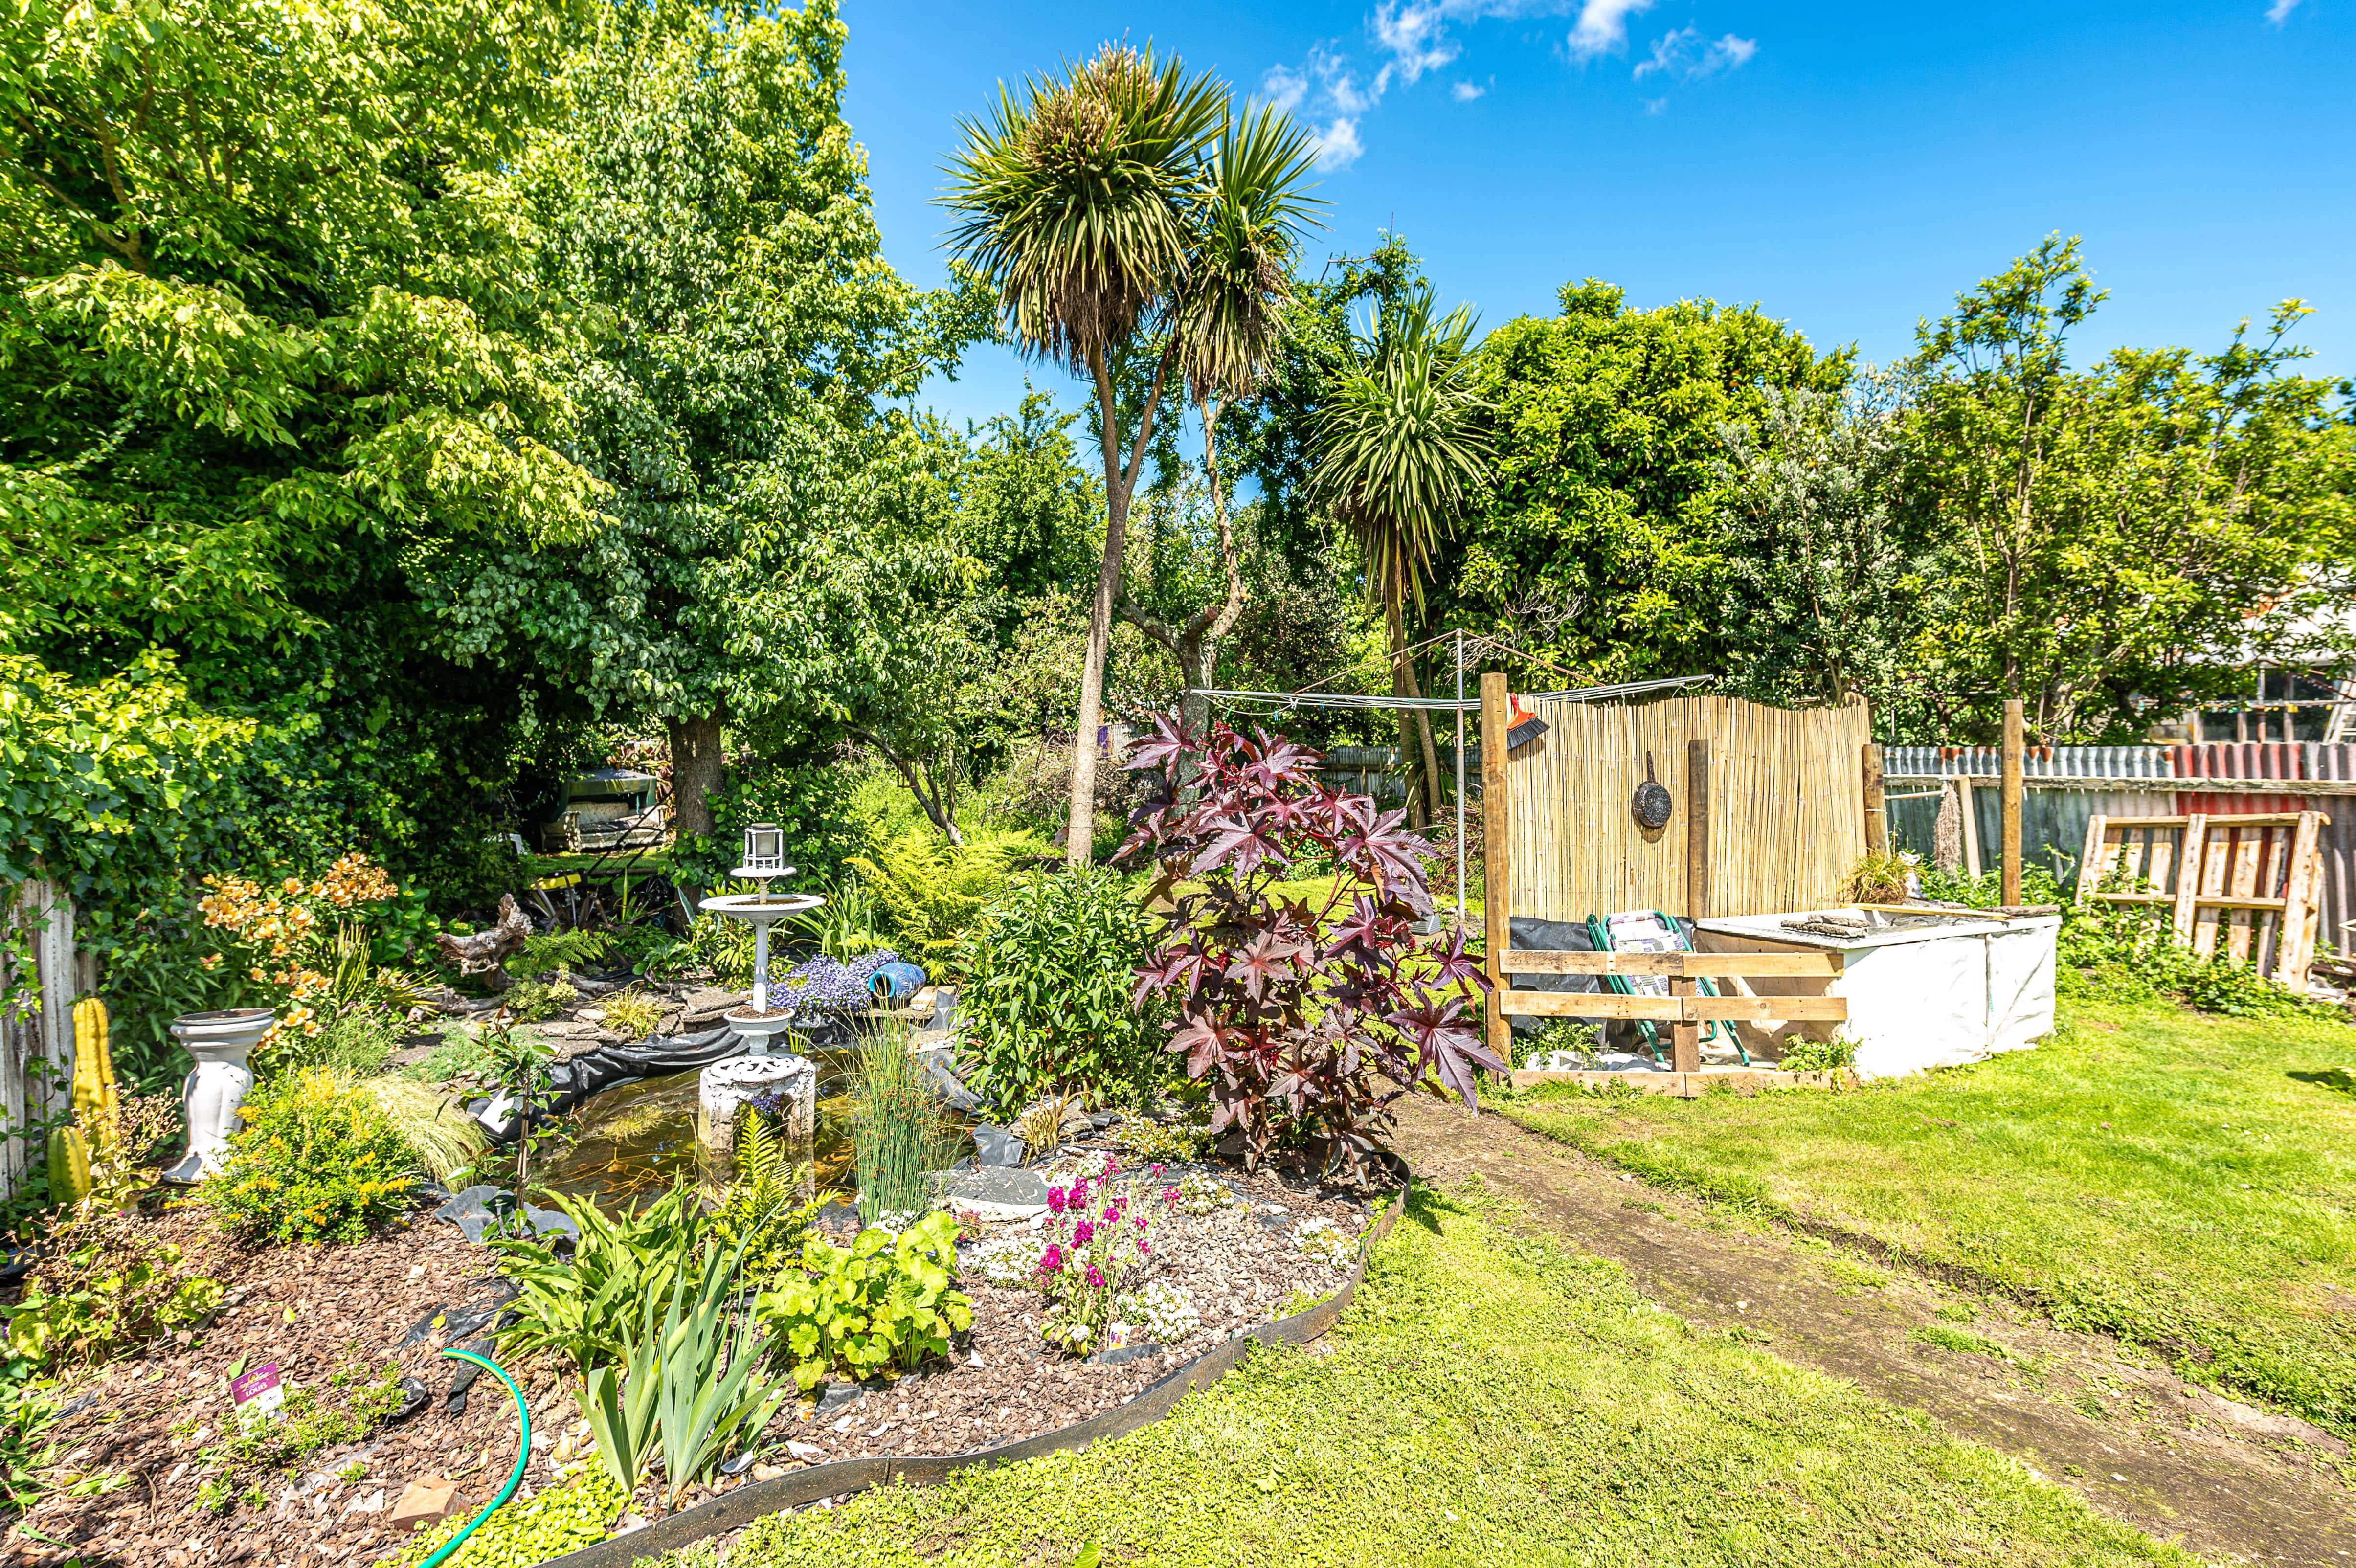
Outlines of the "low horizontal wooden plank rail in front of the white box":
M1840 954L1557 954L1508 949L1501 975L1666 975L1668 996L1619 996L1612 991L1508 991L1498 989L1498 1012L1513 1017L1630 1017L1670 1026L1670 1062L1680 1074L1701 1071L1701 1024L1741 1022L1845 1022L1847 996L1701 996L1699 979L1814 977L1835 979Z

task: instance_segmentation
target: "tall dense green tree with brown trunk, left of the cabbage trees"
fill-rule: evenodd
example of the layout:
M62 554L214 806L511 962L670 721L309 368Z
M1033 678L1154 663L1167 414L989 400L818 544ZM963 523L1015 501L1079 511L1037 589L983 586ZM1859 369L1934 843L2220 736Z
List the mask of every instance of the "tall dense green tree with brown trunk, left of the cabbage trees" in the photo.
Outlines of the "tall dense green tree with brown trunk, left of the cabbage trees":
M542 287L582 320L596 525L431 563L457 647L667 725L683 838L712 831L728 730L768 753L888 706L961 591L954 454L884 400L975 318L881 261L841 45L832 0L596 12L573 118L518 170Z

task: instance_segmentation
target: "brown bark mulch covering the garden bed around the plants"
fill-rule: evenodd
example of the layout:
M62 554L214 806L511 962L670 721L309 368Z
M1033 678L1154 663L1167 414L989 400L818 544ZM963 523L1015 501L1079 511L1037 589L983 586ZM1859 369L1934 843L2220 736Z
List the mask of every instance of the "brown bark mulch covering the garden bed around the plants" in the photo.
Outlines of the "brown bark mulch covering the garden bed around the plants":
M1103 1154L1081 1158L1100 1163ZM1124 1165L1138 1163L1124 1158ZM1185 1170L1216 1175L1242 1203L1162 1220L1150 1278L1190 1290L1202 1314L1202 1328L1183 1342L1119 1363L1074 1361L1041 1344L1041 1297L968 1274L961 1288L975 1321L952 1361L891 1384L834 1389L822 1415L808 1398L787 1408L768 1429L770 1453L744 1474L721 1479L716 1490L803 1462L966 1453L1051 1431L1133 1398L1211 1344L1341 1285L1343 1271L1305 1257L1293 1227L1324 1215L1355 1236L1369 1212L1359 1196L1268 1170L1246 1177L1223 1165L1173 1165L1164 1180L1176 1182ZM153 1224L181 1245L196 1271L229 1288L231 1304L196 1335L155 1342L68 1382L64 1396L78 1408L52 1427L59 1453L75 1474L108 1471L123 1483L94 1497L42 1500L0 1544L7 1561L61 1566L80 1556L87 1568L372 1563L405 1544L384 1521L410 1481L457 1481L469 1507L478 1507L507 1479L514 1403L488 1375L452 1398L452 1380L464 1380L466 1368L438 1354L445 1344L488 1351L488 1323L507 1295L492 1255L469 1245L452 1224L419 1210L372 1241L327 1248L247 1248L191 1208ZM1006 1234L1023 1222L978 1229ZM429 1396L424 1408L358 1443L323 1448L297 1474L259 1476L264 1507L236 1502L214 1514L198 1502L198 1486L212 1474L198 1453L233 1420L231 1368L266 1361L278 1363L290 1389L323 1387L335 1373L372 1377L396 1363ZM535 1462L525 1488L544 1486L549 1448L580 1431L570 1377L561 1375L570 1363L535 1356L502 1366L532 1408ZM360 1471L351 1471L353 1464ZM252 1479L240 1476L238 1486ZM707 1495L697 1488L686 1502ZM641 1490L638 1511L653 1514L653 1483ZM64 1547L35 1540L24 1526Z

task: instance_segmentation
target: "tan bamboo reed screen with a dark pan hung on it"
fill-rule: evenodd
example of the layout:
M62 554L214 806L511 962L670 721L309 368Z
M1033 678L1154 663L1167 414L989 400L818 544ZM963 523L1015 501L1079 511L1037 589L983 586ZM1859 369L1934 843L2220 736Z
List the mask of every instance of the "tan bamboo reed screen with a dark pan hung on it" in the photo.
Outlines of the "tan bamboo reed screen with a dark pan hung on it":
M1531 702L1548 730L1508 763L1513 913L1583 921L1687 911L1687 742L1710 744L1710 913L1831 904L1866 852L1864 702L1769 709L1736 697L1647 704ZM1677 803L1637 826L1644 756Z

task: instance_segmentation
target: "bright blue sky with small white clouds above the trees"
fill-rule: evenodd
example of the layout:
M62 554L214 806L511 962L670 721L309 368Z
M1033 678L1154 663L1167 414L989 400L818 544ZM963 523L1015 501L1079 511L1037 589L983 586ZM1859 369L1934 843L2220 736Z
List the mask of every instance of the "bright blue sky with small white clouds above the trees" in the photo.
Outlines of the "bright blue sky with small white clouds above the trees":
M1129 35L1319 127L1312 254L1407 235L1484 325L1600 275L1633 304L1760 301L1819 346L1918 315L2045 233L2085 238L2113 344L2219 346L2285 297L2356 374L2356 0L846 0L846 113L888 259L938 283L933 195L997 82ZM980 351L926 400L1053 370Z

